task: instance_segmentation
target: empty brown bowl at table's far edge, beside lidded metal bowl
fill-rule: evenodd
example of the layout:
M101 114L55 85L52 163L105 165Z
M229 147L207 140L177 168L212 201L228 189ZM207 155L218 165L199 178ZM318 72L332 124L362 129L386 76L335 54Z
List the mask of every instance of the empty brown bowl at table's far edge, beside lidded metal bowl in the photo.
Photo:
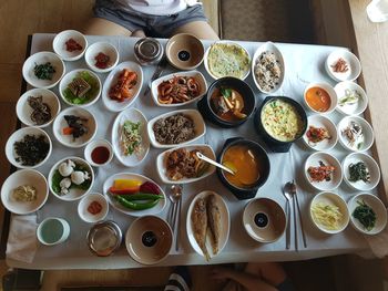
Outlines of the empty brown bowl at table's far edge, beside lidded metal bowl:
M175 34L165 46L169 63L178 70L194 70L200 66L204 53L202 41L188 33Z

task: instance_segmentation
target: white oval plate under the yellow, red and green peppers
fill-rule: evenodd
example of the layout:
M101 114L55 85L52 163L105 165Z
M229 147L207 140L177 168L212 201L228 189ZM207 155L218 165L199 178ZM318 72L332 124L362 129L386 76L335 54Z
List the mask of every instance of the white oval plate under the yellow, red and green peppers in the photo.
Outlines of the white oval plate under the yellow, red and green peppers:
M118 174L110 176L104 181L103 194L105 195L110 205L120 212L123 212L123 214L130 215L130 216L135 216L135 217L141 217L141 216L146 216L146 215L157 215L157 214L163 211L164 207L167 204L167 196L164 194L163 189L157 185L159 189L161 190L161 195L164 196L164 199L160 199L159 204L156 204L154 207L152 207L150 209L144 209L144 210L133 210L133 209L125 208L124 206L119 204L118 200L114 199L114 197L112 197L112 195L109 194L109 188L111 186L113 186L113 183L115 179L134 179L134 180L140 180L142 183L151 181L155 185L157 185L157 184L154 180L152 180L143 175L135 174L135 173L118 173Z

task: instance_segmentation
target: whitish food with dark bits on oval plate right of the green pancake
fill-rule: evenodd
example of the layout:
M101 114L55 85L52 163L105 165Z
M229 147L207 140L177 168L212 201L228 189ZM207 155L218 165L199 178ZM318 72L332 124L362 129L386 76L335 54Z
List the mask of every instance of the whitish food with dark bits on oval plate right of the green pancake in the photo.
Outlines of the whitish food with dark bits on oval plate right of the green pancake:
M275 53L263 52L256 60L254 74L258 85L264 91L274 90L280 82L282 67Z

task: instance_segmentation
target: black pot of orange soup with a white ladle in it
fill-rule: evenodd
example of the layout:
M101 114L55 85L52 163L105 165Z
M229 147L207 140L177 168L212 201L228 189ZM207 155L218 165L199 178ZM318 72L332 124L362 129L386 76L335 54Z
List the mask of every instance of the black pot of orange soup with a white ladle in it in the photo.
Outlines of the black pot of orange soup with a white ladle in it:
M270 170L267 152L256 142L234 137L226 139L217 162L229 168L229 174L217 168L221 181L237 199L251 199L256 196Z

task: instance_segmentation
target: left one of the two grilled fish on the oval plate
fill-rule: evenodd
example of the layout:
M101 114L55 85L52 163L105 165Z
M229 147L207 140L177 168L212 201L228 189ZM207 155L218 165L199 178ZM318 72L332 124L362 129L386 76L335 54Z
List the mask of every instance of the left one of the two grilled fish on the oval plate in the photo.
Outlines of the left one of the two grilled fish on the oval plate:
M195 201L191 219L194 238L204 253L206 261L208 261L211 257L206 248L207 214L206 200L204 198L198 198Z

